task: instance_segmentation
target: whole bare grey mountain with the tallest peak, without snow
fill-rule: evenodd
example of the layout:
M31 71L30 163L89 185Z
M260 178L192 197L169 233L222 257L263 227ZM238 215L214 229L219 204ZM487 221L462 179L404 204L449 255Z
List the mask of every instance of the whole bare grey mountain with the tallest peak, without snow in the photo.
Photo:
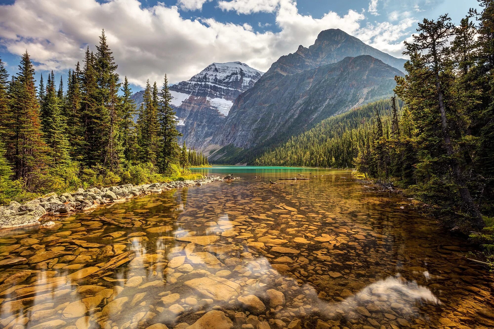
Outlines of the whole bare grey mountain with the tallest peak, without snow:
M275 144L323 119L392 93L405 59L339 29L322 31L309 48L280 57L239 95L211 144Z

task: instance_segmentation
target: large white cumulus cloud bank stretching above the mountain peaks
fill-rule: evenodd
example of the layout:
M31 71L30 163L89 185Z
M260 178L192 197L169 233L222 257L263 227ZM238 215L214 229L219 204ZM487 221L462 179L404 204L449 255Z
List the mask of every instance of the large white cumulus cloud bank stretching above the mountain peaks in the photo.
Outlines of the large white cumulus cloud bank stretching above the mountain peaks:
M387 51L396 47L398 40L393 37L407 26L361 29L365 17L353 10L343 16L330 11L314 18L300 14L294 0L269 3L275 2L279 32L260 33L249 24L185 19L178 6L160 2L144 7L138 0L16 0L0 6L0 45L17 55L28 49L38 69L66 72L82 61L87 45L95 49L104 28L119 74L143 86L147 79L161 82L165 73L170 82L187 80L213 62L242 61L267 71L280 56L294 52L299 44L313 44L319 32L330 28L362 36ZM381 33L389 35L379 37Z

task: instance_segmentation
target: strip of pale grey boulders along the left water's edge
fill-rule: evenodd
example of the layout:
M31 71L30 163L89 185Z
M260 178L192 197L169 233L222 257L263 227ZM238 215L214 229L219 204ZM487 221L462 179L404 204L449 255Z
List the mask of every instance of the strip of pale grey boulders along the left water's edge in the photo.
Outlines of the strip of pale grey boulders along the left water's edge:
M40 219L45 215L57 216L71 212L87 212L109 203L125 202L139 195L161 193L174 188L201 186L211 182L233 179L231 176L221 178L212 175L196 180L168 183L125 184L111 187L93 187L86 190L80 188L74 193L51 194L47 197L28 201L23 205L12 201L8 206L0 206L0 229L41 225ZM49 226L50 222L42 225Z

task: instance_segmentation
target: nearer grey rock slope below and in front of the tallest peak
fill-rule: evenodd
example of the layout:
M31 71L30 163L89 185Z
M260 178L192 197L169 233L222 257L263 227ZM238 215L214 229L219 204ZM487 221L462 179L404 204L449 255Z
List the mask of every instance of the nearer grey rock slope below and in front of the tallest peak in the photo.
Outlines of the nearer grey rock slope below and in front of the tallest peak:
M396 75L402 73L361 55L258 82L237 98L212 142L242 148L276 144L329 116L392 93Z

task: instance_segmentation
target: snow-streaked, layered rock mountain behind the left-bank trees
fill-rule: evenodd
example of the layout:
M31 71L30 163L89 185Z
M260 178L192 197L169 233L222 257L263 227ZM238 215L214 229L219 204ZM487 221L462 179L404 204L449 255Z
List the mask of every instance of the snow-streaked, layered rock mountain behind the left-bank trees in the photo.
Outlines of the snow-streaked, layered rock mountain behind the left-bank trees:
M233 101L262 74L241 62L212 63L190 80L171 85L177 128L187 146L201 148L207 143L225 120ZM142 103L143 94L144 91L138 91L132 95L137 106Z

